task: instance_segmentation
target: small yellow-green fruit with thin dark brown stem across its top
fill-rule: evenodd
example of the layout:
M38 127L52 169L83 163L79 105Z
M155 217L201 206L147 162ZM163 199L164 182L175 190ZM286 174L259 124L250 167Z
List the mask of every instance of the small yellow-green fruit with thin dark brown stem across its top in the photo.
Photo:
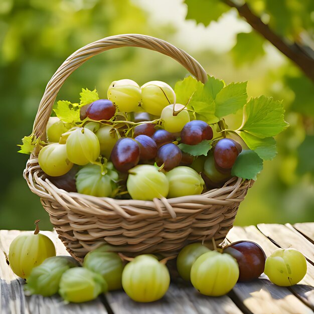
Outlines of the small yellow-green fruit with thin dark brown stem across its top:
M184 108L184 105L176 104L175 111L179 111ZM183 127L190 121L190 115L188 110L183 109L177 115L173 115L174 105L165 107L161 114L163 120L163 127L166 131L171 133L181 132Z

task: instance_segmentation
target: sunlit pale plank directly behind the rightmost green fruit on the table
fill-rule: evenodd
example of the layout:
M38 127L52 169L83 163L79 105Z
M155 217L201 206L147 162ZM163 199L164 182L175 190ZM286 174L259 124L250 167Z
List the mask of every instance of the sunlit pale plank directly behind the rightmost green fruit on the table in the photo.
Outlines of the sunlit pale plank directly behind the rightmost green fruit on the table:
M297 231L279 224L258 224L257 228L282 248L299 250L309 261L314 263L314 244Z

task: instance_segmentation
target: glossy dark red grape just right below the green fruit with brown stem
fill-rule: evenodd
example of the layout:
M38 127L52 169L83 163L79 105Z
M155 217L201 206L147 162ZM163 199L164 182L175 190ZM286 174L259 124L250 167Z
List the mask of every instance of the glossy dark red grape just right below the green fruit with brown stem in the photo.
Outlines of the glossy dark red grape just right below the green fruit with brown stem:
M188 122L181 131L181 141L189 145L196 145L202 140L212 138L212 128L202 120Z

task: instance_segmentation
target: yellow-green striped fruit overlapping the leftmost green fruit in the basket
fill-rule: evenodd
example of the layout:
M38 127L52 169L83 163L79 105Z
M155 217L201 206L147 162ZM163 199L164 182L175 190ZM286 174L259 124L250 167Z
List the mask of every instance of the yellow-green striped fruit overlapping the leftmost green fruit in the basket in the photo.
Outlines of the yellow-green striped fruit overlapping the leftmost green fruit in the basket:
M71 132L66 147L70 162L80 166L94 162L100 154L97 136L84 127L78 127Z

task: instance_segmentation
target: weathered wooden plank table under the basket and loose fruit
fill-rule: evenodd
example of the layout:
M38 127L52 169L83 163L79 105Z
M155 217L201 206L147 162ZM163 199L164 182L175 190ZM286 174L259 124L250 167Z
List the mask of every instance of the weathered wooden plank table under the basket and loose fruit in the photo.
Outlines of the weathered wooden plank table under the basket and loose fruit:
M270 255L278 247L296 248L307 259L307 273L291 287L278 287L262 276L249 283L237 283L228 295L208 297L175 277L167 294L159 301L136 303L123 291L114 291L98 299L65 304L60 296L25 296L24 280L17 277L7 263L11 241L21 233L0 231L0 308L1 314L58 313L313 313L314 309L314 223L295 225L259 224L257 227L234 227L226 241L251 240ZM55 241L57 254L68 254L55 232L43 232Z

